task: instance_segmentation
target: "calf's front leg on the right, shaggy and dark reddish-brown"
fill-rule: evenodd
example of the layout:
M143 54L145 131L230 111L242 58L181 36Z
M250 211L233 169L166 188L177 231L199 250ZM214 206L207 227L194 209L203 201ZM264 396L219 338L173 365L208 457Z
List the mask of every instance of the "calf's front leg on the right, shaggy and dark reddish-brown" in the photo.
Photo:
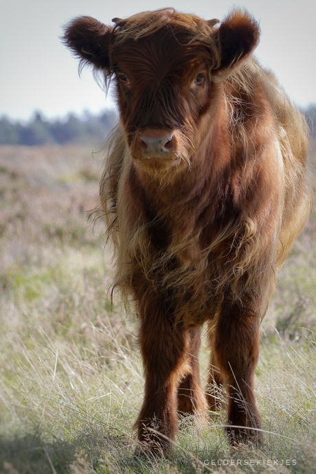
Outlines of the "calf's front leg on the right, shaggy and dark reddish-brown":
M216 327L216 363L228 391L227 433L232 444L262 443L253 392L259 350L260 317L239 304L227 305Z

